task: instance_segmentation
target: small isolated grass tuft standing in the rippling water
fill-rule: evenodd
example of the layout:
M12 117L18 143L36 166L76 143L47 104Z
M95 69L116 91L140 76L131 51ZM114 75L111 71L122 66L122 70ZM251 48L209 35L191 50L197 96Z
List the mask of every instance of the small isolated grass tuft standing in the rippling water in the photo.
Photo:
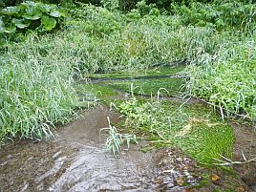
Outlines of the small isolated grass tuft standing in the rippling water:
M110 123L109 117L107 117L109 127L102 128L101 131L108 131L108 138L106 139L105 143L105 151L112 152L114 155L119 154L121 150L121 146L126 143L127 149L130 148L131 142L138 143L138 140L136 138L136 135L130 135L130 134L119 134L117 132L117 128Z

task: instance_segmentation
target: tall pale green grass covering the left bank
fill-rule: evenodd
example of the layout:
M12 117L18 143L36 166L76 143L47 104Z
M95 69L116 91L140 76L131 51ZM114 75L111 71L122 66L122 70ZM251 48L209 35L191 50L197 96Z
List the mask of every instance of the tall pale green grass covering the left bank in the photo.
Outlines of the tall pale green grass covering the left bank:
M0 139L49 138L53 124L74 114L72 58L57 44L43 53L44 46L51 46L46 39L51 40L31 37L1 55Z

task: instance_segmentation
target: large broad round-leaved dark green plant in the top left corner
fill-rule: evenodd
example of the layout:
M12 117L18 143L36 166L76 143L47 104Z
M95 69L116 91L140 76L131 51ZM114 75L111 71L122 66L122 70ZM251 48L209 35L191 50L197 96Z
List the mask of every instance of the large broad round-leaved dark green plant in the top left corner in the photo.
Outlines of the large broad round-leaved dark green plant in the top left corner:
M54 5L26 1L1 10L0 33L53 31L66 16Z

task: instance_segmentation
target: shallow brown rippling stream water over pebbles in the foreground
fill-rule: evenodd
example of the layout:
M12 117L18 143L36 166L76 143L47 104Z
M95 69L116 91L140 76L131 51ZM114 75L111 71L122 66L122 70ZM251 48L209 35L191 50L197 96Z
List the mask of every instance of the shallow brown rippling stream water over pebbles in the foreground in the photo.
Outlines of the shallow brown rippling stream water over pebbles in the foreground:
M57 127L54 138L47 141L16 139L0 150L0 192L25 191L215 191L210 183L199 189L204 173L218 173L203 168L179 149L154 149L143 153L140 149L148 141L139 141L119 155L104 152L108 127L120 122L120 114L97 104L64 127ZM231 123L232 124L232 123ZM240 152L254 157L256 133L246 126L233 123L236 139L234 157ZM245 141L246 140L246 141ZM255 162L235 166L240 173L237 191L256 191ZM217 184L223 184L218 182Z

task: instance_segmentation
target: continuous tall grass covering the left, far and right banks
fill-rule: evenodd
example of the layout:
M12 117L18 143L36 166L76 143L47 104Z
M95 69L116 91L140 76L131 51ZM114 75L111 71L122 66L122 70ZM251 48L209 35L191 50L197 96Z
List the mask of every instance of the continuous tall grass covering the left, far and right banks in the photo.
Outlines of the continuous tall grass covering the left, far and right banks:
M141 16L89 5L73 13L75 18L61 31L32 33L25 42L1 49L0 138L51 136L53 124L74 114L74 74L169 75L181 69L151 69L178 60L190 64L185 74L189 95L255 119L255 31L220 32L212 26L182 25L182 15ZM176 94L183 82L137 79L133 84L139 86L136 94L154 95L160 88ZM125 91L130 82L113 86Z

